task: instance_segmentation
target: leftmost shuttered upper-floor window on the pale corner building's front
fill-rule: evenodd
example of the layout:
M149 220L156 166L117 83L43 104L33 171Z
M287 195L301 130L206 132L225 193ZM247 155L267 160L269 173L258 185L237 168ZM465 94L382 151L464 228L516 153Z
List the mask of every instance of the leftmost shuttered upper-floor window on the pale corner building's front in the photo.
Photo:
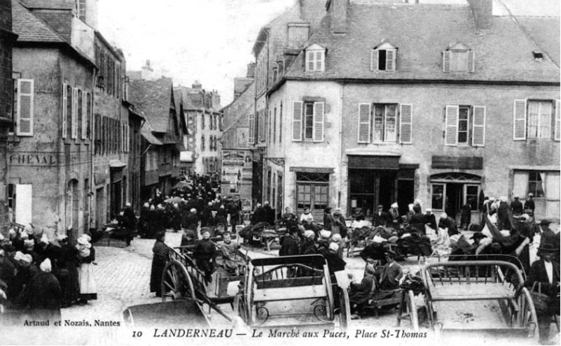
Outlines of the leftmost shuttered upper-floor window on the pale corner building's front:
M294 141L324 141L324 102L293 103L292 140Z

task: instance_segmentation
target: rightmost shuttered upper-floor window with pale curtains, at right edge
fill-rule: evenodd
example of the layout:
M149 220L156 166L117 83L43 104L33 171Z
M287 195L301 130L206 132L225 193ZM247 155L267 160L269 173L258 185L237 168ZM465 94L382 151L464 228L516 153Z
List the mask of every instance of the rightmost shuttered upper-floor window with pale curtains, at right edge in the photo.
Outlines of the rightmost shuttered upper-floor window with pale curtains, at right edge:
M514 100L513 139L560 140L560 101Z

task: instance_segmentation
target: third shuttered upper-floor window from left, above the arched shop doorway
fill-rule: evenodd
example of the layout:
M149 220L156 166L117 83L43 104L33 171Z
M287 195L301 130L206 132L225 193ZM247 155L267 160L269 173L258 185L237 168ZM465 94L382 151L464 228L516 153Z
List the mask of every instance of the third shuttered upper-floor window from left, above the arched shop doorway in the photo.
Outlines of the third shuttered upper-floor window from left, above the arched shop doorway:
M445 145L485 146L484 106L455 106L445 109Z

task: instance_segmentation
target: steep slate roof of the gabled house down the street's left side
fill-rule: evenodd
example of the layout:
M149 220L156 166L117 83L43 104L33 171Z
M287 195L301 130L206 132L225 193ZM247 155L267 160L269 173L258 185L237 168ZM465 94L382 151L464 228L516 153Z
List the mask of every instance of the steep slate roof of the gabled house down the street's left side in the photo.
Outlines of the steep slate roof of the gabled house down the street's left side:
M172 83L172 78L130 80L129 101L144 114L154 132L168 131L169 110L175 109L172 106Z

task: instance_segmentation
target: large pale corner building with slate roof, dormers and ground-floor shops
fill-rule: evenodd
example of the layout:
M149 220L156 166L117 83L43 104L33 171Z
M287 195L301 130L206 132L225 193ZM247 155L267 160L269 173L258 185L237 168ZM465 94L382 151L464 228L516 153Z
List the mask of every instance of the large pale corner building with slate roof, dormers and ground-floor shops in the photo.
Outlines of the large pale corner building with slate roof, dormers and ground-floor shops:
M531 192L538 219L559 219L560 69L550 43L559 50L559 31L533 21L534 33L555 36L540 41L512 14L493 15L492 0L468 2L328 1L268 91L263 138L277 159L266 162L264 199L278 194L318 218L326 206L349 215L396 201L406 212L420 199L457 215L471 203L476 221L483 196Z

